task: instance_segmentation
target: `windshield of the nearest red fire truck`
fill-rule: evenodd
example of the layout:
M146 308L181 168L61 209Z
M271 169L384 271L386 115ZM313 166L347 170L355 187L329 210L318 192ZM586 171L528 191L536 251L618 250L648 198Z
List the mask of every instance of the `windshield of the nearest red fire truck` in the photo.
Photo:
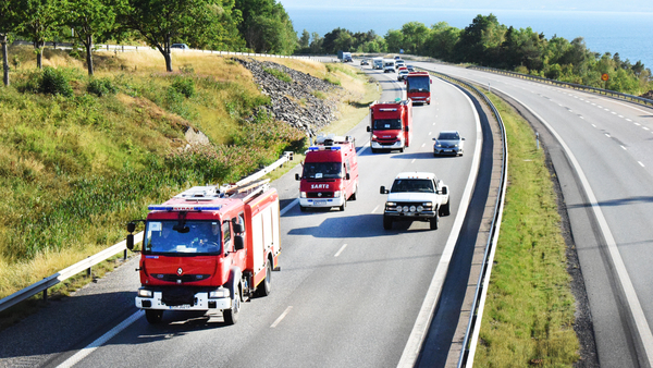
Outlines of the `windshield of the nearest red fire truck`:
M145 232L144 253L150 254L219 254L220 222L186 221L188 232L173 230L178 223L171 221L148 221Z

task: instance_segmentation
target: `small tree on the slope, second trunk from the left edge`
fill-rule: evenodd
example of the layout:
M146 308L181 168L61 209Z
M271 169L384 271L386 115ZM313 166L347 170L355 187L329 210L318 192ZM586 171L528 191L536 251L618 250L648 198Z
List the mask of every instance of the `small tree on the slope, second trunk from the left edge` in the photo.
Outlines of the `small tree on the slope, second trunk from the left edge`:
M63 9L66 0L21 0L16 15L21 20L20 32L28 38L36 49L36 65L42 69L42 53L46 40L59 32L63 25Z

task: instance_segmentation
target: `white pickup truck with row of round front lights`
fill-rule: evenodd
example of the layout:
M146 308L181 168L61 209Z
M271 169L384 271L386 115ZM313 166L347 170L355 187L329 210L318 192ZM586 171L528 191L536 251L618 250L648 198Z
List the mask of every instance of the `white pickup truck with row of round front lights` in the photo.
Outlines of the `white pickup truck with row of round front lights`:
M381 186L380 192L387 194L383 211L385 230L391 230L395 221L428 221L431 230L436 230L439 218L451 213L448 186L433 173L399 173L390 191Z

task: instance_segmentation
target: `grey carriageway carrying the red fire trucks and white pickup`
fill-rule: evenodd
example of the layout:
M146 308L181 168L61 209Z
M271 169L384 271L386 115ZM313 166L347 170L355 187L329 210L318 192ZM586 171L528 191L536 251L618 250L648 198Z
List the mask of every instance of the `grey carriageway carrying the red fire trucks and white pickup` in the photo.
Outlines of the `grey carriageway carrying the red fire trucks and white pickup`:
M383 87L382 100L402 96L396 74L369 72ZM472 101L441 79L432 90L431 106L414 108L414 139L403 154L371 154L369 118L349 132L360 185L344 212L299 211L299 167L272 184L282 203L282 269L272 274L272 294L245 304L237 324L225 326L221 314L172 311L148 324L133 305L132 260L0 332L0 367L395 367L435 271L446 267L445 247L456 245L481 161ZM460 131L465 156L433 157L441 130ZM383 230L379 187L403 171L434 172L449 186L452 214L439 230L427 222ZM458 282L466 286L467 279Z

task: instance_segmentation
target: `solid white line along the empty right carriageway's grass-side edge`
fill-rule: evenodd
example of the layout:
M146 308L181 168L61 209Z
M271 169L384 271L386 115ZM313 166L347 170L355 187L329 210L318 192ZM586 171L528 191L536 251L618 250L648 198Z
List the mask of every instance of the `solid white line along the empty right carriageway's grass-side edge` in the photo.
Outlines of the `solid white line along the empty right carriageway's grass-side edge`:
M596 196L594 195L594 192L592 191L592 187L590 186L589 180L587 179L584 172L580 168L580 163L576 159L576 156L574 156L574 154L571 152L571 149L569 148L569 146L567 146L565 140L563 140L563 137L556 131L553 130L553 126L551 126L551 124L549 124L547 121L542 119L542 116L540 116L537 112L534 112L531 108L529 108L528 106L522 103L517 98L506 94L505 91L504 91L504 94L506 96L513 98L515 101L517 101L521 106L523 106L535 118L538 118L542 122L542 124L544 124L544 126L546 126L549 128L549 131L551 131L551 134L553 134L555 136L555 138L560 143L560 146L563 147L567 157L569 158L571 165L574 167L574 169L576 170L576 172L578 174L578 177L580 179L582 187L588 196L588 200L592 206L592 211L594 212L594 216L596 217L596 221L599 223L599 228L601 229L601 233L603 234L603 237L605 240L605 244L606 244L608 254L613 260L614 269L617 273L617 278L619 279L619 282L621 283L621 287L624 290L624 295L626 296L626 303L628 305L628 308L630 309L630 314L631 314L632 320L634 322L634 328L637 330L636 332L639 333L641 343L643 345L642 348L643 348L643 353L645 354L644 358L648 360L649 367L653 367L653 333L651 332L651 328L649 327L649 322L646 321L646 317L644 316L642 306L639 302L637 293L634 292L634 286L632 286L632 281L630 281L630 277L628 275L628 270L626 269L626 265L624 265L624 259L621 258L621 254L619 253L619 249L617 248L616 241L612 234L612 231L609 230L609 226L607 225L607 220L605 220L605 217L603 216L601 206L599 205Z

